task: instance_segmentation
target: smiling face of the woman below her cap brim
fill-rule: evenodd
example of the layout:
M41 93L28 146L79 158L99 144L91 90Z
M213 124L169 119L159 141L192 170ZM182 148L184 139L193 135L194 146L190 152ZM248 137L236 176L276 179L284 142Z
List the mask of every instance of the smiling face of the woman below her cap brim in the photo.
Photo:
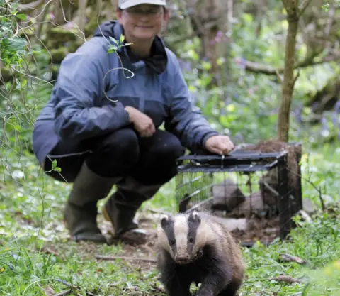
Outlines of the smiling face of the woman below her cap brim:
M128 42L153 40L168 21L169 13L163 6L140 4L117 11L117 19L123 26Z

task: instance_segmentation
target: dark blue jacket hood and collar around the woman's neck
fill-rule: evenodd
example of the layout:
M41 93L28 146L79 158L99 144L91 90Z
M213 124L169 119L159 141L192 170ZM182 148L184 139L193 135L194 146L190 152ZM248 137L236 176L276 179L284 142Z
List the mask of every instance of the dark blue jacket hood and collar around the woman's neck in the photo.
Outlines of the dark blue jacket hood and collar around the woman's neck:
M120 35L124 35L124 28L123 26L118 23L118 21L105 21L101 23L100 26L96 28L94 31L94 36L96 37L113 37L115 40L119 40ZM166 69L166 65L168 62L168 57L166 55L166 49L164 42L159 36L154 38L154 42L152 43L151 48L151 55L149 57L140 59L136 57L130 50L130 48L123 47L118 50L118 53L123 53L128 55L131 62L137 62L142 60L145 62L145 65L152 71L156 72L157 74L161 74Z

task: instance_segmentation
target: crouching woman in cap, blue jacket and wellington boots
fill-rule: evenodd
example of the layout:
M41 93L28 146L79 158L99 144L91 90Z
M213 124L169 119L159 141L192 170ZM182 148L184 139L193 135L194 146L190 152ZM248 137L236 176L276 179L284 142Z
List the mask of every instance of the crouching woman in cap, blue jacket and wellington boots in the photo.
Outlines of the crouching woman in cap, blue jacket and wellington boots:
M113 185L103 214L120 236L138 230L137 209L176 175L184 147L221 155L234 148L193 108L179 62L158 36L169 20L166 0L119 0L116 13L118 21L103 23L62 61L33 131L47 174L73 182L64 221L77 241L106 242L97 202ZM122 34L132 44L118 49L119 59L108 44Z

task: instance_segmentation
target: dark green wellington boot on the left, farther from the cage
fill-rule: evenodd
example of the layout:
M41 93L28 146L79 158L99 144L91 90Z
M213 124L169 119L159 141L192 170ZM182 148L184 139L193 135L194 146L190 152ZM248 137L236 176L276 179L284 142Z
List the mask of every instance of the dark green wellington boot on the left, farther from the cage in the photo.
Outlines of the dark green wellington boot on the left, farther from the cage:
M118 180L97 175L84 162L64 209L64 222L75 241L107 243L97 226L97 202L110 193Z

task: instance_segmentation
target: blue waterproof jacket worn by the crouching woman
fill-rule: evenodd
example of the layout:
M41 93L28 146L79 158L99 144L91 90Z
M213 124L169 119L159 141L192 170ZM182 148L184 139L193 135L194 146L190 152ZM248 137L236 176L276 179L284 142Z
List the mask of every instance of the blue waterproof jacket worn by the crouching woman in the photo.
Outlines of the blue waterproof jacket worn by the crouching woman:
M156 128L164 123L189 150L202 148L217 134L193 106L179 62L161 38L155 38L153 54L146 60L135 59L128 46L118 50L123 67L134 73L126 78L131 73L124 70L124 76L116 53L108 53L108 44L114 44L108 37L119 40L121 34L118 22L107 21L62 61L50 101L33 131L40 163L58 141L81 141L128 126L125 106L147 114Z

